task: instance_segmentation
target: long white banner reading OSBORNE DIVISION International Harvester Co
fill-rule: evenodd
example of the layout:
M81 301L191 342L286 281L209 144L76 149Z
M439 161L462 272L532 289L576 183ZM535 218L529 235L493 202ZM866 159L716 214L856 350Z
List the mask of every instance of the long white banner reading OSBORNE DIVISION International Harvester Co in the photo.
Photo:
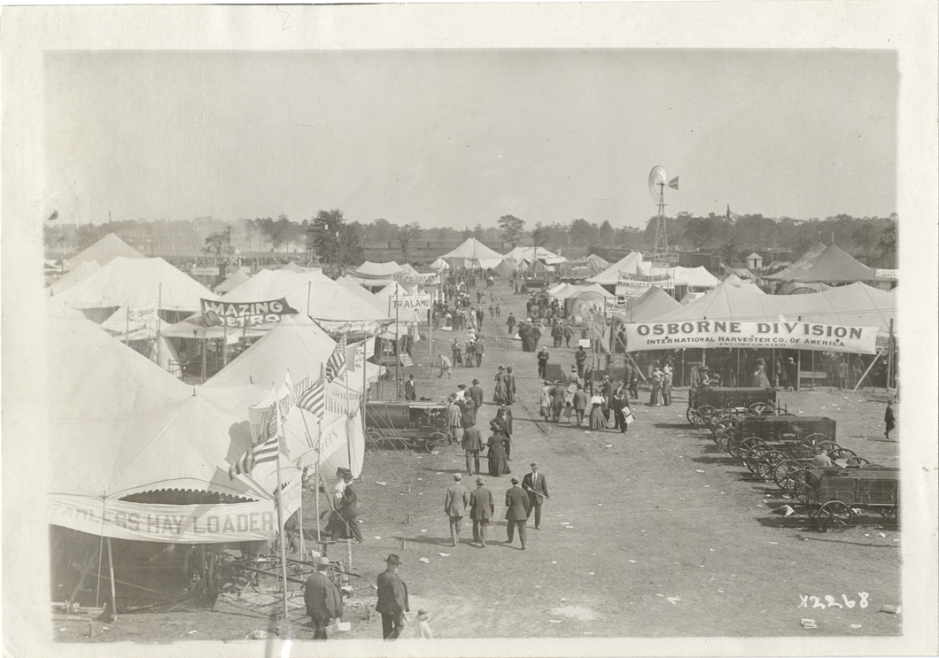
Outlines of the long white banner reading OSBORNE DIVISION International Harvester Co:
M876 327L812 322L694 320L624 325L627 351L685 347L773 347L876 354Z

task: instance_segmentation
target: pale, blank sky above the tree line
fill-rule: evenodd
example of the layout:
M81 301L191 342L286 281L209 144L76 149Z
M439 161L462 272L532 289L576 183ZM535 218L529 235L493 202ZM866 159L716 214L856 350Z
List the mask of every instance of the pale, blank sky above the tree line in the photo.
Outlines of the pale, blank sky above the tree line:
M59 53L44 82L65 222L639 226L654 165L670 214L896 210L885 52Z

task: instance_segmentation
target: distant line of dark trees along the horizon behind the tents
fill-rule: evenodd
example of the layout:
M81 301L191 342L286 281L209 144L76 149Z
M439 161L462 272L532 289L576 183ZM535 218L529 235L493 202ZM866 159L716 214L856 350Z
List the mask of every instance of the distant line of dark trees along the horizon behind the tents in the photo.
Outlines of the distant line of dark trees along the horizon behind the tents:
M192 250L217 258L235 252L308 252L320 262L343 266L363 259L363 248L393 245L408 260L408 252L419 241L455 242L476 237L485 243L543 246L553 252L571 247L627 247L652 249L655 217L644 228L614 227L609 222L570 222L527 224L514 215L501 216L494 225L463 228L423 228L418 222L396 224L384 218L373 222L348 222L341 209L319 210L309 219L294 222L284 213L276 219L260 217L222 222L212 217L191 221L124 220L97 225L68 223L69 218L54 212L44 222L43 237L50 252L85 249L100 237L114 231L146 255L165 250ZM845 252L863 257L871 266L897 267L896 213L889 217L835 215L824 220L771 218L761 214L692 215L680 212L666 218L670 246L685 250L715 250L727 263L740 262L748 252L774 249L806 252L817 241L832 239Z

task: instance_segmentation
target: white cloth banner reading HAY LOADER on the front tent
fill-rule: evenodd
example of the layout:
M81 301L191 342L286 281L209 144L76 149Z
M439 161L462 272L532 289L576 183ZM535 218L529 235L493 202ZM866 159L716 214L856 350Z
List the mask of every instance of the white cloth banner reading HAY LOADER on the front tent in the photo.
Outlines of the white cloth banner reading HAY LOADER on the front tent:
M299 506L295 498L295 492L285 492L287 516ZM277 510L270 500L229 505L151 505L108 500L103 509L100 499L52 495L48 500L49 522L55 526L115 539L250 542L273 539L277 531Z

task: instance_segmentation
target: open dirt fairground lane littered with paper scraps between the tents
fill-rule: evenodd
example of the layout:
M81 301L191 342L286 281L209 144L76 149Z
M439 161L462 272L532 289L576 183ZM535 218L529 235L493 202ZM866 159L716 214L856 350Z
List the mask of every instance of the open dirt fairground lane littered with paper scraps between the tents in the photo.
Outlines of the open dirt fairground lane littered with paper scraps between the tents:
M532 460L541 463L551 495L542 529L530 523L525 552L517 539L502 544L501 502L511 476L486 477L497 503L490 545L469 545L465 521L463 542L451 548L443 495L452 474L465 468L462 453L455 447L437 454L367 451L357 486L365 543L352 548L353 571L362 577L352 582L357 603L346 614L352 629L337 641L381 637L380 616L368 611L389 553L403 561L399 574L408 583L412 616L419 607L432 610L437 637L901 634L901 615L880 612L883 604L900 603L897 521L867 515L843 533L825 534L798 506L793 516L771 513L793 500L690 427L685 389L675 390L672 406L634 405L637 421L626 435L540 421L534 354L509 340L502 324L510 311L524 316L525 298L513 296L504 281L495 291L501 320L484 324L482 368L454 368L450 380L428 376L422 341L415 367L403 376L414 373L418 396L434 400L477 376L489 401L498 364L515 366L519 399L510 466L521 477ZM435 332L435 352L451 336ZM542 344L550 344L546 338ZM573 351L552 348L551 360L566 370ZM883 436L883 390L780 391L779 398L797 415L836 419L841 446L871 462L899 465L899 444ZM639 400L648 401L646 390ZM495 409L487 402L480 410L484 431ZM485 471L485 458L482 466ZM469 478L464 483L474 486ZM310 494L304 512L305 527L314 527ZM333 559L339 554L344 547L331 549ZM300 603L301 588L295 589ZM54 635L66 642L162 642L235 640L255 629L275 630L275 620L250 609L217 607L121 615L93 638L86 624L57 623ZM806 618L817 628L803 628ZM307 622L295 608L290 635L312 638Z

